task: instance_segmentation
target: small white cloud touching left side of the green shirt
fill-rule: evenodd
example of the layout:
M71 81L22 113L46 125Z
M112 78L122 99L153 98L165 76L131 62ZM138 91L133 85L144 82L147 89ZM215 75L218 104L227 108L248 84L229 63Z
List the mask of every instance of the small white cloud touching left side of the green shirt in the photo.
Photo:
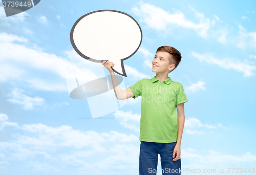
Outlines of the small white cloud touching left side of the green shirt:
M124 112L118 110L114 113L116 119L118 119L119 124L134 130L135 132L140 132L140 115L132 114L132 111Z

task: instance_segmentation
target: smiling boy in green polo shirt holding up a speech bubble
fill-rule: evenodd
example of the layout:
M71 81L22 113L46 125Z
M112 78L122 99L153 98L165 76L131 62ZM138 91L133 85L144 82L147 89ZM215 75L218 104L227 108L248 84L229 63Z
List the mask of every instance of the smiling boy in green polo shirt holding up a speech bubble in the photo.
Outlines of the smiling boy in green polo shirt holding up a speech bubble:
M183 86L172 81L168 74L181 61L178 50L169 46L157 49L152 61L152 71L156 76L143 78L125 91L117 84L113 62L102 61L110 71L115 95L118 100L141 96L140 120L140 175L180 174L180 145L185 122L184 103L187 102ZM178 124L177 113L178 111ZM161 170L157 170L158 154L161 156Z

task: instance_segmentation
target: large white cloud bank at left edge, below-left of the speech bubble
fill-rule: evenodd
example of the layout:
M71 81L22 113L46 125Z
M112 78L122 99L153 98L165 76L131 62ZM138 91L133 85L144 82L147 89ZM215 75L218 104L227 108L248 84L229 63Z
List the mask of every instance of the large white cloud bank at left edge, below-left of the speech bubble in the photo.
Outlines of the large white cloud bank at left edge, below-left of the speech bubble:
M41 48L29 48L26 43L30 44L26 38L0 33L0 82L16 80L39 90L67 91L66 71L85 59L73 50L64 51L67 59L48 54ZM87 65L77 70L91 75L84 78L97 77L94 63L88 61Z

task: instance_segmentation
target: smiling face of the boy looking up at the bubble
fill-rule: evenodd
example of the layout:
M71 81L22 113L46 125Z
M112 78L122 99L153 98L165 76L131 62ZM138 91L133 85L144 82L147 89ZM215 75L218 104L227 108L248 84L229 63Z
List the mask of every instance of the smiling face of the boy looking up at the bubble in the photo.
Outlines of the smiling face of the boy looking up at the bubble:
M152 72L157 72L157 73L169 73L170 70L173 70L175 67L175 64L169 64L169 58L168 57L173 57L172 54L169 54L168 52L162 52L159 51L156 53L155 58L152 61ZM157 67L155 67L155 65Z

